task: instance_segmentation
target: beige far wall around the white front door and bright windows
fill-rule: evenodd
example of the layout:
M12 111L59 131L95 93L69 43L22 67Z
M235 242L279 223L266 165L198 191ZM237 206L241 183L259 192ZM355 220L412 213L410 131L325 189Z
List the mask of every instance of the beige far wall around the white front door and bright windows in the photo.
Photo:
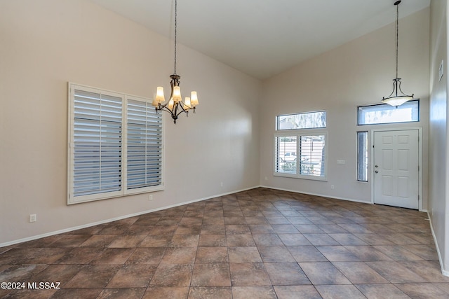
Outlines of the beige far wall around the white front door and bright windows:
M420 122L356 125L357 106L380 104L392 90L396 76L394 28L394 23L382 27L264 81L260 116L262 186L370 202L371 183L356 181L356 132L419 126L423 132L423 208L427 209L429 8L399 21L399 76L404 92L421 99ZM276 115L320 110L327 111L328 181L273 176ZM337 160L346 164L337 165Z

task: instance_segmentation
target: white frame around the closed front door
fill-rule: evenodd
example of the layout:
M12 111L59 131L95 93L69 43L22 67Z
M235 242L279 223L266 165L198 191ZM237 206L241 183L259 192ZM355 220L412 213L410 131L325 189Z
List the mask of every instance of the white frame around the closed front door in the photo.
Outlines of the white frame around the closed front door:
M418 131L418 211L423 211L422 209L422 127L394 127L394 128L384 128L384 129L373 129L370 132L370 150L368 155L370 155L370 165L368 165L368 179L371 178L371 203L374 204L374 133L375 132L388 132L388 131Z

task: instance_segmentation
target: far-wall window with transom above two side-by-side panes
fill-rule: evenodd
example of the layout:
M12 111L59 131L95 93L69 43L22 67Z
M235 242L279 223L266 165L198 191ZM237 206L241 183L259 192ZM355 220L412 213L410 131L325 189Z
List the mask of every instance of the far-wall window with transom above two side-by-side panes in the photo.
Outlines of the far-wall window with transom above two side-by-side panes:
M316 130L326 127L326 111L277 116L276 120L274 175L326 180L327 133Z

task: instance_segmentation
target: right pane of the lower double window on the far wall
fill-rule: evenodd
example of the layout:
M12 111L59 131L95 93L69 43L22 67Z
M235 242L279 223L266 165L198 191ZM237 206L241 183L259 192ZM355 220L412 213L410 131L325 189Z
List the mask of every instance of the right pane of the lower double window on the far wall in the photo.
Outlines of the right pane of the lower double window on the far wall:
M324 135L301 136L300 153L300 174L326 176Z

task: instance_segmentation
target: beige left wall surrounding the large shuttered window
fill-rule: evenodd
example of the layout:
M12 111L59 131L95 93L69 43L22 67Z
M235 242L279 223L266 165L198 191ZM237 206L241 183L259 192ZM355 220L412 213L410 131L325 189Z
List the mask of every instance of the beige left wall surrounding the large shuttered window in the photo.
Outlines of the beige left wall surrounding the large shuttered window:
M259 185L260 81L182 45L177 59L200 105L165 120L165 190L67 206L67 82L153 97L173 41L88 1L0 0L0 246Z

